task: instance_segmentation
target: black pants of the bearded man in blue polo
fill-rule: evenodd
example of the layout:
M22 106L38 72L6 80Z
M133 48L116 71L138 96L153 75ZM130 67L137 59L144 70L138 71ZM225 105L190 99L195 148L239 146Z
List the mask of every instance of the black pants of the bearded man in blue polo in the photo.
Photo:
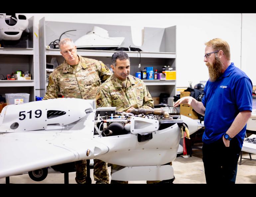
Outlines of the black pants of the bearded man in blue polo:
M222 137L211 144L203 143L203 165L207 184L235 184L237 162L239 159L237 138L230 141L225 147Z

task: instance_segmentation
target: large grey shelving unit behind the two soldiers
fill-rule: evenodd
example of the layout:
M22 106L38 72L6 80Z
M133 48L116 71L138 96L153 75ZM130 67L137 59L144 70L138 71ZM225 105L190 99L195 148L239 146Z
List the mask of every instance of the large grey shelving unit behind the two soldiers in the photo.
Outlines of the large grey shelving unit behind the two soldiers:
M45 21L42 18L39 21L39 54L40 54L40 96L43 97L47 90L48 81L46 72L46 63L56 58L61 64L64 61L60 49L48 49L46 46L53 40L68 30L77 30L70 34L73 41L76 41L94 26L103 28L109 33L109 37L124 37L119 47L140 48L142 51L125 51L130 58L130 74L135 76L136 72L141 72L145 67L153 67L154 70L161 71L163 66L171 66L176 70L176 26L168 28L144 28L143 44L141 46L133 45L131 27L115 26L103 24L84 24L69 22ZM102 61L107 67L111 65L111 57L114 50L88 50L77 49L77 54L83 57ZM141 64L141 67L138 65ZM161 93L176 95L176 80L143 80L148 87L152 97L159 97Z

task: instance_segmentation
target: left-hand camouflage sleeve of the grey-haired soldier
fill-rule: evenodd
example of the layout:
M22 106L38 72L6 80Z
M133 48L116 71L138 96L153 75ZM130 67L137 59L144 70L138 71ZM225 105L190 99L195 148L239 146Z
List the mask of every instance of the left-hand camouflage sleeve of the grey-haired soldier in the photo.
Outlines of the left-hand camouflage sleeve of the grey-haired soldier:
M53 73L51 73L50 76L49 76L49 83L48 83L48 86L47 86L47 91L45 93L45 96L44 96L43 100L57 98L59 90L60 90L59 83L55 79Z

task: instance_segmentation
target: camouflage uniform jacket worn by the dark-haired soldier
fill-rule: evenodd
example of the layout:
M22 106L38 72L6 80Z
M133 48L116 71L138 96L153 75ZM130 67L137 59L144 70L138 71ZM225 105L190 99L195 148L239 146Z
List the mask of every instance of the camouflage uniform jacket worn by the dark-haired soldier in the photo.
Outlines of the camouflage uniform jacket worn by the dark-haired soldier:
M116 107L118 111L130 107L154 108L154 100L144 82L132 75L127 79L125 85L113 74L101 84L96 95L97 107Z

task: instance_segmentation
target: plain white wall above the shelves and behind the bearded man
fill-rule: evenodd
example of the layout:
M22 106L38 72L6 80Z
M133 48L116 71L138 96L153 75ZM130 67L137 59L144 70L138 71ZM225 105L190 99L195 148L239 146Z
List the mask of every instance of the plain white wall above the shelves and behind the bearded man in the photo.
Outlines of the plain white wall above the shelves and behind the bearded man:
M35 24L45 17L46 21L107 24L131 26L133 43L142 44L142 29L144 27L167 28L177 27L176 40L176 70L177 87L188 87L199 81L208 80L208 70L203 62L204 43L212 38L222 38L230 45L231 62L241 68L241 18L242 32L242 70L251 77L256 85L252 66L256 58L254 34L256 33L256 14L25 14L28 18L35 17ZM241 17L242 16L242 17ZM252 53L252 51L254 51ZM254 71L255 73L255 71Z

